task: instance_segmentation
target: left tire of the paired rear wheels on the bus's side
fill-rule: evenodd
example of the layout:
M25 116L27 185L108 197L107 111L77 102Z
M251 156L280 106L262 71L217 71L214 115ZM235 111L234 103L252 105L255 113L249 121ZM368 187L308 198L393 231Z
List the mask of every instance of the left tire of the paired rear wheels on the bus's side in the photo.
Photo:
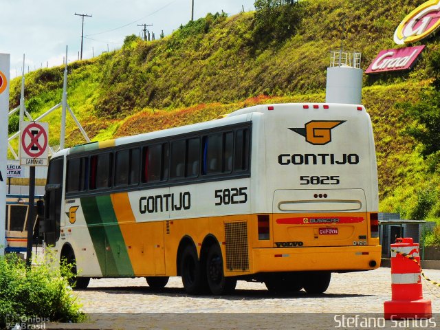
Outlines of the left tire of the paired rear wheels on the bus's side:
M187 245L181 254L180 275L188 294L201 294L206 289L206 276L191 245Z

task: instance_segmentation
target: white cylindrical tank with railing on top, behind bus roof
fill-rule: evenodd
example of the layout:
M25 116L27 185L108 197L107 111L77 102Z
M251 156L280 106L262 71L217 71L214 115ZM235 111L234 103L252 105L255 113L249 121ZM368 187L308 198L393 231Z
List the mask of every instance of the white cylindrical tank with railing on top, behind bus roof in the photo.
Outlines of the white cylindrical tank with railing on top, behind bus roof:
M330 58L325 102L362 104L361 53L332 51Z

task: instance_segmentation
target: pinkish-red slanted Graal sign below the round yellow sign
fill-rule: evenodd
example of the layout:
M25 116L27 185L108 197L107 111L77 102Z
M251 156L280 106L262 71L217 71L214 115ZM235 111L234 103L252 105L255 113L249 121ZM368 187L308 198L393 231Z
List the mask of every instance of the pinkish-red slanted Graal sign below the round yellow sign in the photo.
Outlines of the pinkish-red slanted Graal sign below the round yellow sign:
M425 48L422 46L405 47L399 50L382 50L373 63L366 69L366 74L410 69Z

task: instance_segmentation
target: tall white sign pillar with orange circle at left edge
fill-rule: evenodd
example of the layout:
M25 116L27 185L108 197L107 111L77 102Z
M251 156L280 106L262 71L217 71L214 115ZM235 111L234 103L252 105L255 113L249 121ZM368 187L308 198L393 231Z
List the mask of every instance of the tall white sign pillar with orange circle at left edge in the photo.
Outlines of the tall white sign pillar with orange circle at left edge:
M0 54L0 255L5 252L6 159L8 158L10 55Z

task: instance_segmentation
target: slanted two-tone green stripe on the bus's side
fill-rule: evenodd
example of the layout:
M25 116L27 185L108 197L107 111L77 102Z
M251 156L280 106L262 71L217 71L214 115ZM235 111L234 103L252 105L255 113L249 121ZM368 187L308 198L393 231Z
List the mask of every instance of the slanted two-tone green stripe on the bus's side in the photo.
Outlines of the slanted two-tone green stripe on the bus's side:
M84 197L80 200L102 275L133 276L110 197Z

